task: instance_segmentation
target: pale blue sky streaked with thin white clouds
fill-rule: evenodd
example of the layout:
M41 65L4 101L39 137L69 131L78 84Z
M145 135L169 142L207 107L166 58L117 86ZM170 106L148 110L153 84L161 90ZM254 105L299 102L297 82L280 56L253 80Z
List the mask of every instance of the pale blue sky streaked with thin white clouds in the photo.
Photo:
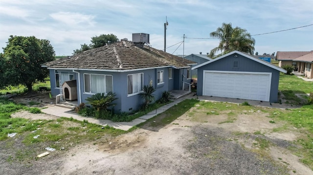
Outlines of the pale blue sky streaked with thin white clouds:
M0 51L11 35L48 39L56 56L70 56L91 37L133 33L150 34L150 45L164 50L166 18L166 52L174 55L210 52L219 39L199 38L222 23L253 35L259 55L313 50L313 0L0 0Z

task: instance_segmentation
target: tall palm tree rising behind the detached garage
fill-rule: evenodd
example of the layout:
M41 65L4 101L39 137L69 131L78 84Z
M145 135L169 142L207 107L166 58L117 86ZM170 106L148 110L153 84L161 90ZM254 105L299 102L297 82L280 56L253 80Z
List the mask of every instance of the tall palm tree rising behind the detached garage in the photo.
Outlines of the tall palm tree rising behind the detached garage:
M220 44L209 54L211 58L214 58L217 52L224 55L234 50L253 55L255 40L246 29L233 28L231 23L223 23L222 27L218 27L216 31L210 33L210 37L220 39Z

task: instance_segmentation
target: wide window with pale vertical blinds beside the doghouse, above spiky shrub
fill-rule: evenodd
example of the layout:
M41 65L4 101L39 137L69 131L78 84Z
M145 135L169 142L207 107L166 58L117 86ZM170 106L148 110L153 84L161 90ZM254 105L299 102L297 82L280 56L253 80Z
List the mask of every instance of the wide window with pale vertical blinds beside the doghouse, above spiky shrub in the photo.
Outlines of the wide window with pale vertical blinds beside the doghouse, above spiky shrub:
M84 93L97 94L113 92L112 75L84 74Z

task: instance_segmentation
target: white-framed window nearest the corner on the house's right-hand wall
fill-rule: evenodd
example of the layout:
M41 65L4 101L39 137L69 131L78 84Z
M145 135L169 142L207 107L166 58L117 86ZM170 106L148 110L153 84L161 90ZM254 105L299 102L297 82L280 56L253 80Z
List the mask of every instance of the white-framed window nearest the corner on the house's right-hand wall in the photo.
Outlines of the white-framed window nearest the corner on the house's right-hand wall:
M142 92L143 73L127 75L127 95L135 95Z

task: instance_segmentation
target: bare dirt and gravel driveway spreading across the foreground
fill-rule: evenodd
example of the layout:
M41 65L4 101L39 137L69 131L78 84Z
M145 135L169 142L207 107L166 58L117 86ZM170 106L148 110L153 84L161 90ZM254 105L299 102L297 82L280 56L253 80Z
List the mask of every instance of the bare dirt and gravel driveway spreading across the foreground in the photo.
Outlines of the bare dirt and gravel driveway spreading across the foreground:
M310 175L313 171L287 149L301 136L285 122L270 123L261 111L243 111L233 123L227 115L192 115L196 107L165 127L161 117L140 129L86 143L41 158L31 170L47 175ZM220 123L220 124L219 124ZM222 124L221 124L222 123ZM276 133L273 128L288 126ZM268 146L264 146L268 145ZM2 164L1 166L6 166ZM11 165L10 168L16 166ZM8 168L8 167L6 167ZM2 169L3 170L3 169ZM34 171L37 170L37 171ZM10 173L4 173L10 174Z

